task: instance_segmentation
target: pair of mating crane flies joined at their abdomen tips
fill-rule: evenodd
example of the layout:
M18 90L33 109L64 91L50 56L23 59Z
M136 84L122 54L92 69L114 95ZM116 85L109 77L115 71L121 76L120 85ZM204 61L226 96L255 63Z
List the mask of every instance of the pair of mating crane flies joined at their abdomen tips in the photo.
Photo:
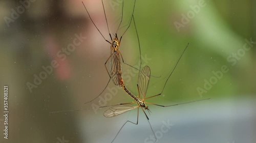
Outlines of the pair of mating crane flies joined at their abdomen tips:
M102 35L102 33L99 31L98 27L96 26L96 24L94 23L94 21L92 20L86 6L84 5L84 3L82 2L84 8L86 9L88 15L89 15L89 18L91 19L92 23L94 24L94 26L97 28L98 32L101 34L101 36L104 38L104 40L108 43L111 44L111 55L109 56L109 58L106 60L104 66L106 68L106 71L108 72L109 76L110 76L110 79L108 81L108 83L106 84L106 87L108 87L108 84L110 82L110 80L112 79L112 81L114 82L115 85L119 85L130 97L133 98L133 102L128 102L128 103L120 103L120 104L115 104L115 105L107 105L107 106L101 106L101 107L95 107L95 108L103 108L103 107L110 107L109 109L105 110L104 113L103 113L103 116L104 117L108 117L108 118L111 118L111 117L115 117L115 116L118 116L122 113L125 113L127 111L130 111L130 110L133 110L133 109L137 109L137 122L131 122L131 121L126 121L122 127L120 128L120 130L118 131L118 133L116 134L115 138L117 137L117 135L119 134L119 132L121 131L121 129L124 127L124 125L128 122L132 123L132 124L135 124L135 125L138 125L138 120L139 120L139 107L142 109L142 111L144 112L144 115L146 116L147 118L147 121L151 127L151 130L152 132L154 133L153 129L152 129L152 126L149 122L149 118L145 112L145 110L147 110L148 112L150 112L150 108L146 105L146 104L152 104L152 105L156 105L156 106L161 106L161 107L169 107L169 106L176 106L176 105L180 105L180 104L186 104L186 103L191 103L191 102L196 102L196 101L202 101L202 100L207 100L207 99L201 99L201 100L194 100L194 101L189 101L189 102L185 102L185 103L180 103L180 104L173 104L173 105L159 105L159 104L155 104L155 103L150 103L150 102L146 102L145 100L146 99L150 99L150 98L153 98L153 97L156 97L156 96L159 96L163 93L164 91L164 88L165 88L165 85L168 81L168 79L170 78L170 76L173 74L174 70L176 69L180 59L182 58L182 55L183 53L185 52L187 46L185 47L185 49L183 50L180 58L178 59L178 61L176 62L176 65L174 66L173 70L170 72L169 76L167 77L165 83L164 83L164 86L163 86L163 89L161 91L160 94L157 94L157 95L153 95L153 96L150 96L150 97L146 97L146 93L147 93L147 89L148 89L148 85L150 83L150 77L151 77L151 69L150 67L148 66L145 66L142 70L141 69L137 69L129 64L126 64L124 61L123 61L123 57L122 57L122 54L121 52L119 51L119 46L120 46L120 43L121 43L121 39L123 37L123 35L126 33L126 31L129 29L130 25L131 25L131 22L133 20L134 22L134 25L135 25L135 30L136 30L136 34L137 34L137 38L138 38L138 43L139 43L139 54L140 54L140 68L141 68L141 50L140 50L140 42L139 42L139 37L138 37L138 32L137 32L137 28L136 28L136 24L135 24L135 19L134 19L134 9L135 9L135 3L136 3L136 0L134 1L134 7L133 7L133 12L132 12L132 17L129 21L129 25L127 26L126 30L124 31L124 33L121 35L120 37L120 40L118 39L117 37L117 32L119 30L119 27L122 23L122 19L123 19L123 4L122 3L122 13L121 13L121 20L120 20L120 23L119 23L119 26L117 28L117 31L116 31L116 34L114 35L115 38L112 39L112 36L110 34L110 30L109 30L109 25L108 25L108 20L106 18L106 14L105 14L105 8L104 8L104 4L103 4L103 0L101 0L102 2L102 6L103 6L103 10L104 10L104 15L105 15L105 21L106 21L106 25L108 26L108 31L109 31L109 35L110 35L110 38L111 38L111 41L108 41L105 39L105 37ZM137 88L138 88L138 96L135 96L134 94L132 94L124 85L124 81L122 79L122 71L121 71L121 62L120 62L120 56L122 58L122 62L132 68L135 68L137 70L139 70L139 75L138 75L138 82L137 82ZM106 67L106 63L108 63L108 61L110 60L110 72L108 70L108 68ZM96 98L98 98L103 92L104 90L106 89L106 87L103 89L103 91L97 96L95 97L93 100L95 100ZM210 99L210 98L208 98ZM89 102L92 102L93 100L89 101ZM89 102L86 102L86 103L89 103ZM136 105L133 105L133 104L136 104ZM87 109L93 109L93 108L87 108ZM67 112L67 111L80 111L80 110L87 110L87 109L78 109L78 110L65 110L65 111L55 111L55 112L51 112L51 113L56 113L56 112ZM155 136L155 133L154 133L154 136ZM115 138L112 140L112 142L115 140ZM156 138L156 136L155 136Z

